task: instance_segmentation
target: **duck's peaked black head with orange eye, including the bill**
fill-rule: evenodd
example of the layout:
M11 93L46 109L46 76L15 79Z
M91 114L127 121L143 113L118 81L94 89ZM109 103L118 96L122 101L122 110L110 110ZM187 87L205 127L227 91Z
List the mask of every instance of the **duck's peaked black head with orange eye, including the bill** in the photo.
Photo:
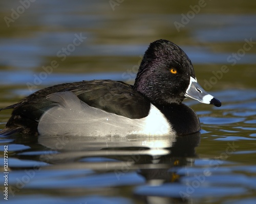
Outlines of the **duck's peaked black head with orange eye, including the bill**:
M168 40L152 42L145 52L134 89L157 104L182 103L185 97L221 106L198 83L194 67L183 50Z

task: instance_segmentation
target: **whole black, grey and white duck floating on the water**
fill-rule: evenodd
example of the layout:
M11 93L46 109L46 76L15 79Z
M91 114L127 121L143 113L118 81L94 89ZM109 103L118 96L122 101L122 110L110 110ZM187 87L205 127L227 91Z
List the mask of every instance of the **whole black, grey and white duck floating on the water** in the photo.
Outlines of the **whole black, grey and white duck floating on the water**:
M200 121L182 104L185 97L221 106L197 83L183 50L168 40L157 40L146 50L133 86L93 80L41 89L3 108L13 112L0 133L187 135L200 131Z

